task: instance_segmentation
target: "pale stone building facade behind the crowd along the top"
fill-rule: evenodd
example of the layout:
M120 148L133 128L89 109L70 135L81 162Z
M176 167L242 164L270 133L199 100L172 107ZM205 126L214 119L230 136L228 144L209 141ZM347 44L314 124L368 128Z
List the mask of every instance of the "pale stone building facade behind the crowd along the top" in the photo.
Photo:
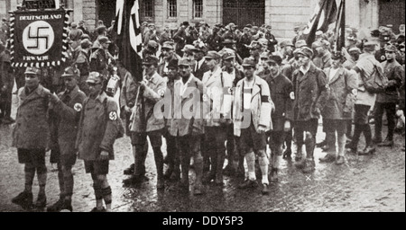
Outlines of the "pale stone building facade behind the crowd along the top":
M205 21L216 23L235 22L261 26L272 25L277 38L294 36L293 27L307 23L309 15L319 0L139 0L141 20L153 22L158 30L168 25L177 28L181 22ZM331 0L334 1L334 0ZM337 6L340 0L335 0ZM8 17L8 11L16 9L23 0L0 0L0 16ZM73 10L71 21L84 20L93 30L97 21L107 26L115 18L115 1L112 0L60 0ZM357 29L374 30L380 25L392 24L399 32L404 24L404 0L350 0L346 1L346 24Z

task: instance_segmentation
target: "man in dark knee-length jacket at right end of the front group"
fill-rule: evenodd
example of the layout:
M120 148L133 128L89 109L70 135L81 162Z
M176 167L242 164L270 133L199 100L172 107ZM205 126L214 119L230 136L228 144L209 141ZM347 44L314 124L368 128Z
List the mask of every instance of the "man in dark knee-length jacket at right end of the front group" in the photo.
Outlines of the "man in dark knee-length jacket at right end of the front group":
M295 164L302 169L303 173L314 171L314 148L316 145L316 133L318 130L318 118L320 116L322 98L326 97L326 75L312 62L313 51L303 47L298 51L300 68L293 73L293 109L296 145L298 146L297 158L300 161ZM306 140L303 141L303 132L306 132ZM303 143L304 142L304 143ZM302 157L302 146L306 146L306 158Z

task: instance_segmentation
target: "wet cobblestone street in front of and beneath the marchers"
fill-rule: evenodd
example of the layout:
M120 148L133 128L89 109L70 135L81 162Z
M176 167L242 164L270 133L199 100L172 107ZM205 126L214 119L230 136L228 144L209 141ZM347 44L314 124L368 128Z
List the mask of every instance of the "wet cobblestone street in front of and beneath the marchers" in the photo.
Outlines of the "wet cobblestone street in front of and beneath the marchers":
M374 126L372 126L373 128ZM324 137L319 126L318 141ZM386 130L386 127L383 128ZM11 147L12 128L0 126L0 211L23 211L11 199L23 190L23 164L18 164L16 149ZM384 135L384 134L383 134ZM384 136L383 136L384 137ZM404 137L395 136L393 148L377 148L374 155L346 154L346 164L320 164L325 155L315 151L316 171L309 175L294 166L294 160L282 161L280 180L272 183L270 194L263 196L258 187L254 190L237 190L241 179L225 176L223 187L206 186L206 194L194 196L165 190L157 192L153 154L147 158L149 181L134 187L124 187L123 170L132 164L129 137L115 142L115 160L110 162L108 181L113 190L113 211L127 212L274 212L274 211L405 211L405 154L401 151ZM364 146L364 137L360 146ZM162 150L165 147L162 146ZM163 151L164 155L166 154ZM48 206L59 199L58 173L51 171L47 153ZM166 166L165 166L166 167ZM90 174L85 173L83 161L73 168L74 211L87 212L95 206ZM194 175L194 173L191 173ZM190 181L191 183L193 181ZM168 185L171 185L169 182ZM193 184L192 184L193 185ZM34 200L38 182L33 185Z

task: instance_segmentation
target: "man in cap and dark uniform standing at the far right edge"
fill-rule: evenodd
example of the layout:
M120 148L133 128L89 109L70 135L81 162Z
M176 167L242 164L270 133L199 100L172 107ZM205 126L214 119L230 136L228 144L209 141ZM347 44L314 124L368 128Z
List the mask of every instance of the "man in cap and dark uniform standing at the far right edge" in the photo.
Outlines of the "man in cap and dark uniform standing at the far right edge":
M396 61L397 49L394 45L385 47L386 61L382 63L383 74L388 77L389 84L384 93L377 93L375 103L375 137L374 142L378 146L393 146L393 132L395 128L396 104L399 102L399 89L401 87L401 79L404 75L404 70ZM382 118L383 111L386 111L388 120L388 134L382 141Z

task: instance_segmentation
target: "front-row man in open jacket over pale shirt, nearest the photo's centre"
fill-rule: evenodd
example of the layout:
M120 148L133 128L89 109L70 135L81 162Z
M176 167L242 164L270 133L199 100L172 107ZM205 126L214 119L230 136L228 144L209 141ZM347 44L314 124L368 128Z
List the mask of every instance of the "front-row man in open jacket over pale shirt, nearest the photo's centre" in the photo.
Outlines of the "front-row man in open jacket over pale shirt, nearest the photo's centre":
M202 174L203 157L200 146L204 134L202 112L203 83L191 74L188 60L180 59L178 63L180 80L174 85L174 106L171 119L171 136L176 138L180 150L181 180L180 190L189 191L189 164L193 156L196 181L193 193L203 193ZM190 101L193 105L190 105ZM190 106L190 108L184 108ZM186 112L186 114L184 114ZM190 112L190 113L189 113Z

